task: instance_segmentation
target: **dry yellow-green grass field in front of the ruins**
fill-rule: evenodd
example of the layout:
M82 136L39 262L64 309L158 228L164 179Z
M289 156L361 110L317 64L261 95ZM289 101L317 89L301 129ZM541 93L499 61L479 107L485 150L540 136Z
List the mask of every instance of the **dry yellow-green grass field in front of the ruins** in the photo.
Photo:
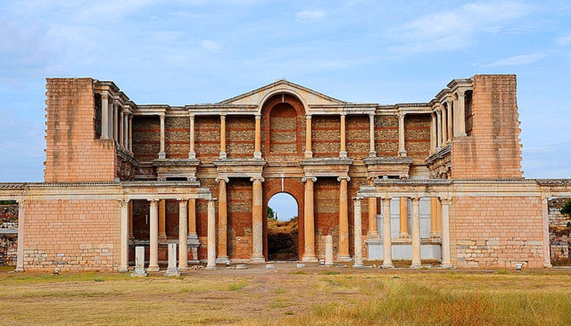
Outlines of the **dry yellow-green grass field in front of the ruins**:
M9 273L3 325L570 325L571 270Z

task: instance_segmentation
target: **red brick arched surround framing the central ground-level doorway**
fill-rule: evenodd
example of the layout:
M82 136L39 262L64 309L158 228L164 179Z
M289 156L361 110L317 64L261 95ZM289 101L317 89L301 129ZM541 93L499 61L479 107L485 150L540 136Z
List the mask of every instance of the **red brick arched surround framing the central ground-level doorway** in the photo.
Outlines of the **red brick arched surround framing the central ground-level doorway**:
M288 193L298 202L298 259L300 259L303 256L303 248L305 248L303 237L303 196L305 187L300 178L266 179L263 185L263 216L268 216L268 201L278 192ZM268 219L263 219L263 255L268 259Z

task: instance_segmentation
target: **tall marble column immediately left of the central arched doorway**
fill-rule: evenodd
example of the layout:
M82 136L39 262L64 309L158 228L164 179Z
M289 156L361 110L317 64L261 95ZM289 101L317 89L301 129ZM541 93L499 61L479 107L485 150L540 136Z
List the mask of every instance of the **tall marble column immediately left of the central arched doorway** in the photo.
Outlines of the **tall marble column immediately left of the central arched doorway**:
M252 261L263 263L263 188L262 177L252 178Z

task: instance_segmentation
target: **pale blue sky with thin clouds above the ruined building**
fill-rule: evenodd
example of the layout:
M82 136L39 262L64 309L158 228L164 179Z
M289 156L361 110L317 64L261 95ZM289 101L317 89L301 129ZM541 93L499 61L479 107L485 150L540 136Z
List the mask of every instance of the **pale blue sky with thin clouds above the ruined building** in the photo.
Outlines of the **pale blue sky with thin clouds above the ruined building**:
M83 3L82 3L83 2ZM218 102L286 78L354 102L428 102L515 73L525 177L571 177L571 1L2 1L0 182L43 179L45 78L135 102Z

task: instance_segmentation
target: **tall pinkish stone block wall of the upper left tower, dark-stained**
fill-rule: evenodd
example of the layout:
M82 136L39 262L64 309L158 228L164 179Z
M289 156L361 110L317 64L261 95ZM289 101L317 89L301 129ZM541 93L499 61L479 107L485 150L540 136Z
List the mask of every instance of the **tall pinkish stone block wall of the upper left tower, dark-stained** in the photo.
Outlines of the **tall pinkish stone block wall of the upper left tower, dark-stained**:
M94 80L48 78L46 96L45 181L113 181L115 142L96 139Z

